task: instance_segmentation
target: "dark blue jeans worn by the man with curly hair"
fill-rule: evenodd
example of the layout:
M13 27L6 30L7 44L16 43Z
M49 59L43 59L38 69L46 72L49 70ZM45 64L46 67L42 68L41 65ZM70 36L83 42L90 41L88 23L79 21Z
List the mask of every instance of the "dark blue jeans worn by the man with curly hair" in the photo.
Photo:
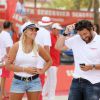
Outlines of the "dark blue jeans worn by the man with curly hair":
M99 100L100 83L92 84L82 78L73 79L68 100Z

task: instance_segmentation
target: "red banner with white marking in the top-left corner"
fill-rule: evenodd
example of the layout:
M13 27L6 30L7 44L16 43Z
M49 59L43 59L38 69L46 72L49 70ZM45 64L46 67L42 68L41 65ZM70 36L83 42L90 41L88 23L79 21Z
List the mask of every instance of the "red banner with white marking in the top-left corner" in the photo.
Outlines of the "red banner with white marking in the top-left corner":
M4 20L11 20L17 0L0 0L0 24Z

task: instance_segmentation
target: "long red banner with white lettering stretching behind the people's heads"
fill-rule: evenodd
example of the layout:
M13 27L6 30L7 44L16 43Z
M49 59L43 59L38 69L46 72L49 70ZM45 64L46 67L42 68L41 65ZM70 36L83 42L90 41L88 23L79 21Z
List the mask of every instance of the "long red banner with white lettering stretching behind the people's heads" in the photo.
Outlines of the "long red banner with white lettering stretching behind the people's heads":
M82 19L93 20L93 12L87 11L69 11L27 7L26 12L30 19L35 22L41 20L41 17L43 16L49 16L53 22L58 22L64 26Z

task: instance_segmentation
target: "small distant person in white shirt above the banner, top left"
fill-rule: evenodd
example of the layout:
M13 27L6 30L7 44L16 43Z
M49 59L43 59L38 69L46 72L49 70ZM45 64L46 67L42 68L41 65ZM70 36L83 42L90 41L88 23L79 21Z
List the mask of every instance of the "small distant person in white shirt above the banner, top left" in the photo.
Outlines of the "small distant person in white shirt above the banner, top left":
M15 13L21 14L21 15L26 15L24 0L18 0L18 2L16 4L16 8L15 8Z

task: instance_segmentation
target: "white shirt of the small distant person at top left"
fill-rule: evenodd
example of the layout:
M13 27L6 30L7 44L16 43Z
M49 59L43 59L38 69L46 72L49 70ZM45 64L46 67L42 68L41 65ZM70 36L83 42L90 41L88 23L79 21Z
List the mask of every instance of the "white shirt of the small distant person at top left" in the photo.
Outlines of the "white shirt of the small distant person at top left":
M16 4L15 12L18 13L18 14L25 15L25 14L26 14L26 11L25 11L24 4L21 4L21 3L18 1L17 4Z

